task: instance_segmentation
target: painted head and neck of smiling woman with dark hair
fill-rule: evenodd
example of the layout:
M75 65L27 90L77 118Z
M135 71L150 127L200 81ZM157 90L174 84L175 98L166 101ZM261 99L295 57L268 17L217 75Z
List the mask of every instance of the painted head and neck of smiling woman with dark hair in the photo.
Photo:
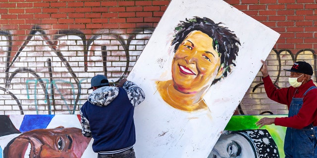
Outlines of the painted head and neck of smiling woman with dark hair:
M173 108L188 112L208 109L204 94L236 66L240 41L220 24L194 17L175 27L172 79L157 81L160 96Z

